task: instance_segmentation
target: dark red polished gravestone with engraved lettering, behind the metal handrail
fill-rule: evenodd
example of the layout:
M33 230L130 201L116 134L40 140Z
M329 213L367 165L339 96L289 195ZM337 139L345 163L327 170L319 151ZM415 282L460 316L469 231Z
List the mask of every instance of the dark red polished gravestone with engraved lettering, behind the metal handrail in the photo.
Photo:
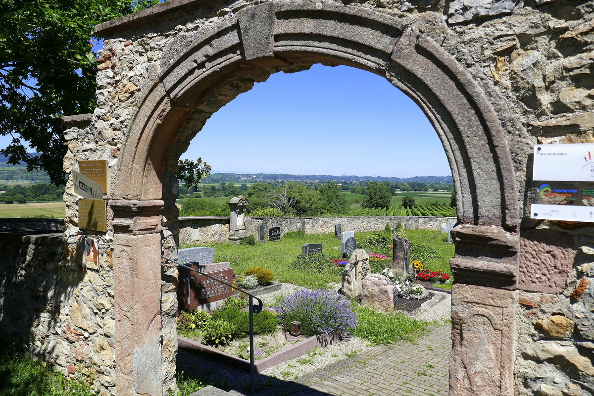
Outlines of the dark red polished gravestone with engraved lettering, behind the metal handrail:
M233 283L233 268L228 262L214 262L200 265L189 264L188 267L198 269L211 277L223 282ZM196 308L207 309L204 305L223 300L232 294L231 287L219 283L202 274L179 267L178 309L179 311L192 311Z

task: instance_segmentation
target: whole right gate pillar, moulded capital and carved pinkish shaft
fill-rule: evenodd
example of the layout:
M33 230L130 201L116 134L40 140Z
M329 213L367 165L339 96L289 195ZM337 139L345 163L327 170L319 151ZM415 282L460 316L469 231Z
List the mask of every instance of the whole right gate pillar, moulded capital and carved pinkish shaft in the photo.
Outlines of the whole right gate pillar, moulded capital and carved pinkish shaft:
M520 238L498 226L452 230L451 396L513 396Z

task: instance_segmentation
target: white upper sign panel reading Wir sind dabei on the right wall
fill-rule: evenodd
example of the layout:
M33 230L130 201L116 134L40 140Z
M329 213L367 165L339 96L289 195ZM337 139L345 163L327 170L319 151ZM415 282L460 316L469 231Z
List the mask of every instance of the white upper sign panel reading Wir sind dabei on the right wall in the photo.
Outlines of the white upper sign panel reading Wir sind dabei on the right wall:
M532 180L594 182L594 144L537 144Z

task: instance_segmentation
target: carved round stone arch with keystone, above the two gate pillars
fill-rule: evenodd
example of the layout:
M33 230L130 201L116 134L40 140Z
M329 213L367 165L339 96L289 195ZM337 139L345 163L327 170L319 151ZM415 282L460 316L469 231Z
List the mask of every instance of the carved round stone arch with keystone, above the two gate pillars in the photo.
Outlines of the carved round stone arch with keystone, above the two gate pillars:
M165 157L179 128L192 112L204 112L206 119L232 100L221 99L222 87L314 63L365 69L405 91L443 142L460 221L516 228L513 164L484 87L415 23L331 3L266 2L179 34L163 53L129 128L115 183L118 197L161 198Z

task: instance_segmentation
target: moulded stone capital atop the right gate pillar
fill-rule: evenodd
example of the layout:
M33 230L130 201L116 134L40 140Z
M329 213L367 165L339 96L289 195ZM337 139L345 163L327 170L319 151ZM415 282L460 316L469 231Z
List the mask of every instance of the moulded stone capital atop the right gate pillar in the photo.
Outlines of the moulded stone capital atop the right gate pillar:
M456 256L450 259L459 283L514 289L520 237L498 226L459 224L451 230Z

